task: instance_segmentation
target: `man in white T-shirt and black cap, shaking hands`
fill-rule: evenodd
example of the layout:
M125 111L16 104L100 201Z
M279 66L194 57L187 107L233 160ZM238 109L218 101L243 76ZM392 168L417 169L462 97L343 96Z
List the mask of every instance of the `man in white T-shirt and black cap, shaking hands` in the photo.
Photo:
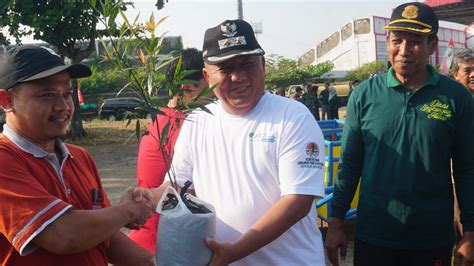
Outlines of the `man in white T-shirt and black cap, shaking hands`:
M313 204L324 194L323 135L303 104L264 92L263 55L243 20L206 31L203 74L219 101L184 122L177 182L216 209L210 265L324 265Z

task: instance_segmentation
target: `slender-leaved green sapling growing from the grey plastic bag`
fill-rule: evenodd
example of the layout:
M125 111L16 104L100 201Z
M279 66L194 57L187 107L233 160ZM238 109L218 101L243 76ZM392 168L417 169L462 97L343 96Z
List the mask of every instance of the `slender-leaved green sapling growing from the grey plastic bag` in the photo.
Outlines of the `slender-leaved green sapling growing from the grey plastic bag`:
M188 114L195 109L210 112L205 107L205 102L202 102L200 98L208 95L215 86L203 89L193 99L184 97L186 90L182 89L181 85L198 84L198 81L187 80L186 77L199 70L182 71L181 57L176 58L172 54L167 56L160 55L164 36L157 34L157 28L164 19L155 21L154 15L151 15L146 23L137 24L136 21L138 21L138 17L131 21L125 16L123 10L120 8L121 0L119 0L118 4L111 5L99 5L94 0L90 1L94 8L102 10L101 13L103 16L100 17L100 21L105 26L105 31L118 32L117 38L99 36L100 41L104 44L107 60L113 64L117 70L120 70L123 76L129 81L118 94L122 91L130 91L139 97L141 103L140 106L136 108L136 111L144 111L151 114L152 120L156 122L157 132L160 132L160 134L158 134L159 147L157 148L160 148L159 151L162 153L163 158L166 158L162 147L168 142L168 130L171 121L178 120L179 123L179 118L168 117L163 130L159 130L161 127L158 125L159 122L156 120L156 115L161 114L166 116L166 114L161 111L161 108L167 107L169 99L175 98L176 96L178 96L178 102L173 109L182 114ZM115 21L117 16L123 19L123 24L111 23L111 21ZM110 36L110 34L108 36ZM173 61L176 62L174 75L172 79L167 79L163 82L163 74L161 74L160 71ZM136 118L136 114L137 112L127 114L127 125ZM136 119L135 135L137 137L140 137L140 130L144 126L145 125L143 125L139 119ZM166 161L167 160L164 160L165 164L167 163ZM166 166L166 168L170 169L168 166ZM172 177L171 181L173 187L177 189L173 171L169 171L168 174Z

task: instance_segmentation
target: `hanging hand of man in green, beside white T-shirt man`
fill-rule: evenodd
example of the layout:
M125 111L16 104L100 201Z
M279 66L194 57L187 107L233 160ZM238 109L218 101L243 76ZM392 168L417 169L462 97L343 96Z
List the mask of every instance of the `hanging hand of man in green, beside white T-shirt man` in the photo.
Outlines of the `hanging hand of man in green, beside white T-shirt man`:
M326 250L332 265L339 266L339 253L341 258L346 259L347 238L342 230L342 220L331 218L326 233Z

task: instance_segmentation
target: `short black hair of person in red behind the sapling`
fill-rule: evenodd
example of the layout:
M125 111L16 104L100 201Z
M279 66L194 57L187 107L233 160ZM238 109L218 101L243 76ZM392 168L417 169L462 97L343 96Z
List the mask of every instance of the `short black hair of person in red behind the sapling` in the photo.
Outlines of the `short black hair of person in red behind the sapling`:
M202 59L202 52L196 48L187 48L184 50L178 50L171 53L174 57L172 62L168 65L165 70L166 81L171 83L174 79L174 72L178 65L179 57L181 56L182 65L181 71L183 70L196 70L195 72L187 75L185 78L189 80L199 81L203 78L202 69L204 68L204 60Z

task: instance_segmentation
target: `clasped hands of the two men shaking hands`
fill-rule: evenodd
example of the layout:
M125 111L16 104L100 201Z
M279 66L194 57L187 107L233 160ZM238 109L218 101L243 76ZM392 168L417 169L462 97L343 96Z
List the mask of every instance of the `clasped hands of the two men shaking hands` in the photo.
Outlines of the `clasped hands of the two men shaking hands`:
M125 227L140 229L156 209L151 190L140 187L129 187L120 197L117 206L127 213L128 222Z

